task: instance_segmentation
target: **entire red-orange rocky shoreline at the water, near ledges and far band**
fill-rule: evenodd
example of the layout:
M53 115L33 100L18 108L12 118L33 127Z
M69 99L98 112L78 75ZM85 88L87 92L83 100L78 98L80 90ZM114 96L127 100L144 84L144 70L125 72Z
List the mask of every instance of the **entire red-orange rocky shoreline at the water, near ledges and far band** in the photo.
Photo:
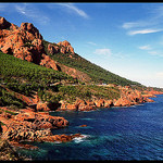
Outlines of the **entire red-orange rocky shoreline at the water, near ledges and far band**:
M153 100L149 99L149 97L154 97L154 95L163 92L153 90L146 91L146 93L142 95L142 92L138 91L137 89L134 90L129 87L122 87L121 98L117 100L76 100L73 104L61 101L61 106L58 108L57 111L92 111L100 108L130 106L143 102L153 102ZM28 97L24 96L24 99L27 101ZM3 124L1 125L2 139L9 140L9 142L14 147L37 149L37 147L23 145L21 142L67 142L72 141L76 137L83 137L82 134L53 135L51 133L51 129L66 127L68 125L68 121L64 117L49 115L50 109L48 108L46 102L40 103L38 96L35 96L35 98L30 100L35 101L36 108L33 109L30 108L30 105L28 105L26 109L22 109L16 112L15 115L9 113L9 108L0 108L2 111L2 113L0 114L0 121Z

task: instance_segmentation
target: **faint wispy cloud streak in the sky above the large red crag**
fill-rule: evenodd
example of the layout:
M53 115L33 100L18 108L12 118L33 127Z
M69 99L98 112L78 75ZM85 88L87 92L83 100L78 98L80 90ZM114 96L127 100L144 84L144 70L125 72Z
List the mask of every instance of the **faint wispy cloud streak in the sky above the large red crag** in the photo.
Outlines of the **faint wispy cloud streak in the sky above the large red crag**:
M50 18L46 16L43 12L28 3L15 4L15 10L18 13L39 22L40 24L47 24L50 21Z

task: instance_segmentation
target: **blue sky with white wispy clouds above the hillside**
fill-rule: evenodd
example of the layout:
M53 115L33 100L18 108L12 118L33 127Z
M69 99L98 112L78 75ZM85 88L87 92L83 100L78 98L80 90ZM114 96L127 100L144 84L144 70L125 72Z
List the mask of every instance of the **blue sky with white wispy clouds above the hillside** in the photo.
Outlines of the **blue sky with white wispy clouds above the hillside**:
M0 3L0 16L33 23L51 42L120 76L163 88L163 3Z

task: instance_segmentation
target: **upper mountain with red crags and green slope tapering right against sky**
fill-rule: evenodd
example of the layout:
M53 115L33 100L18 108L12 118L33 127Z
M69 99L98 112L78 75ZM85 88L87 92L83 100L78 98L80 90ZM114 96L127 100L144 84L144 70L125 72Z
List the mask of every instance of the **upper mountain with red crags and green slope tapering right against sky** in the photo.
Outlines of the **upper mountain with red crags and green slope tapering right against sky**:
M3 53L66 73L80 83L141 86L82 58L66 40L58 43L43 40L32 23L22 23L18 27L0 16L0 37Z

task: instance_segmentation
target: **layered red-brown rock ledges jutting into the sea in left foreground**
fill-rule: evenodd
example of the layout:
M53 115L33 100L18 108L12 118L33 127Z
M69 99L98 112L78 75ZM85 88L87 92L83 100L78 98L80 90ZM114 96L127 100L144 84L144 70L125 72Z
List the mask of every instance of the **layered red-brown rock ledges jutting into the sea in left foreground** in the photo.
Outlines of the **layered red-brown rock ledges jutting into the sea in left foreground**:
M83 137L80 134L53 135L51 129L66 127L68 121L64 117L51 116L48 112L34 112L32 109L21 110L16 115L3 112L0 114L0 122L3 124L1 139L7 139L11 145L22 148L37 149L34 146L22 145L22 141L66 142L75 137Z

